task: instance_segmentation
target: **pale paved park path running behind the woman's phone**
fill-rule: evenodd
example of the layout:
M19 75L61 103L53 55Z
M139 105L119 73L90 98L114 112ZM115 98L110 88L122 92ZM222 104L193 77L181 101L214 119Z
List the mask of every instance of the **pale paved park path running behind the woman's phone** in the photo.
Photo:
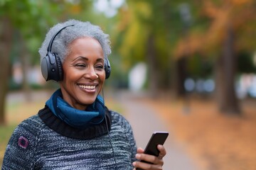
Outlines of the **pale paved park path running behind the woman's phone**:
M114 98L121 103L124 108L124 116L129 120L134 131L134 137L138 147L146 147L146 143L154 131L169 131L168 125L165 125L157 113L139 102L141 97L139 93L129 91L116 92ZM198 170L195 162L188 156L186 151L174 142L174 135L169 132L164 147L167 154L164 157L164 170Z

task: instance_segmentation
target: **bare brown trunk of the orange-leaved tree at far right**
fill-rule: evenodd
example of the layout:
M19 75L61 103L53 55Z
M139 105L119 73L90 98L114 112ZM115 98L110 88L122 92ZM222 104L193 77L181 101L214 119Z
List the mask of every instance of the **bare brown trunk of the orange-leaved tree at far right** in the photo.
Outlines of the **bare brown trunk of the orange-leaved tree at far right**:
M235 94L235 67L234 52L235 35L233 28L228 26L226 38L223 43L223 53L216 62L216 92L217 102L221 113L238 115L240 106Z

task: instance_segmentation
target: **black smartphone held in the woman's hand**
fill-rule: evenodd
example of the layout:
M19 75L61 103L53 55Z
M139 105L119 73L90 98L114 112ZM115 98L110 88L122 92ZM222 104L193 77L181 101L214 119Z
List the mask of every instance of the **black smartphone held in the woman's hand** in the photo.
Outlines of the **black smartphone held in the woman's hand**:
M157 149L157 145L164 145L164 142L166 141L168 135L169 135L169 132L154 132L151 135L151 138L146 145L144 154L151 154L158 157L159 149ZM141 162L145 162L145 161L141 161ZM150 162L146 162L146 163L151 164ZM137 170L141 170L141 169L137 168Z

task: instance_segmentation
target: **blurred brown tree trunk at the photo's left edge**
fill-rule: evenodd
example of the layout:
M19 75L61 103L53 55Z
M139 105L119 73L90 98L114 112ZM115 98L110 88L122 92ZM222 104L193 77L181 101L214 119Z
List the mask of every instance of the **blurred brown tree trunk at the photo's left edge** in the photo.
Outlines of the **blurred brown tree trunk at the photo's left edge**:
M5 104L6 94L8 91L8 82L10 75L9 55L11 51L12 27L9 18L1 18L1 33L0 33L0 125L5 123Z

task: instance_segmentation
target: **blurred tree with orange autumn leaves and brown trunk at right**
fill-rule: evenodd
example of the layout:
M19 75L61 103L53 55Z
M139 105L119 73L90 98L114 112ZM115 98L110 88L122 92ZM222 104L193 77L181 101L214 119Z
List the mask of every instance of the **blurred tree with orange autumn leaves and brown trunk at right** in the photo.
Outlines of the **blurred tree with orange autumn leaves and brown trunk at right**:
M201 52L215 58L216 99L223 113L240 113L235 94L238 52L253 51L256 6L252 0L195 1L197 26L189 35L190 53ZM203 22L202 22L203 21ZM187 47L185 39L178 42L176 56Z

